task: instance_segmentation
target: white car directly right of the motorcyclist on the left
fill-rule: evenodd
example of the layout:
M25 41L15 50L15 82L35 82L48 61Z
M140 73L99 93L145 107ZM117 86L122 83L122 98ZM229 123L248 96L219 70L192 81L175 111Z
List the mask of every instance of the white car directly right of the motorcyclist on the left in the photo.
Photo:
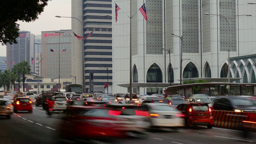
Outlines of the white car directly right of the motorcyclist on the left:
M66 111L67 108L67 101L66 96L52 96L52 100L54 101L54 105L52 110L63 110Z

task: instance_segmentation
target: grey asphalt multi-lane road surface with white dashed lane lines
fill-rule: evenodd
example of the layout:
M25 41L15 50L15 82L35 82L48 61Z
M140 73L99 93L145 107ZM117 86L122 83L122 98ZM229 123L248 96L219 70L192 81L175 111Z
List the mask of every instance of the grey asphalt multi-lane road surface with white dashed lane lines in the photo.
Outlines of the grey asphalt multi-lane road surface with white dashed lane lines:
M33 106L33 113L20 112L6 119L0 117L0 144L51 144L63 114L46 115L42 107ZM250 144L256 143L256 133L250 139L239 132L222 128L197 127L178 132L156 130L147 139L122 139L116 144ZM104 142L98 142L104 144Z

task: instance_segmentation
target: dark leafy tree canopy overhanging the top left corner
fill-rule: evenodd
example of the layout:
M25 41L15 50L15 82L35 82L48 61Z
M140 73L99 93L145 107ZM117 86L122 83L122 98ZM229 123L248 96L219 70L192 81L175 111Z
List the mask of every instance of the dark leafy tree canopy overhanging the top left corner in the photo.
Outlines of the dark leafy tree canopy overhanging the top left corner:
M0 4L0 42L16 44L19 36L18 20L32 22L38 19L50 0L3 0Z

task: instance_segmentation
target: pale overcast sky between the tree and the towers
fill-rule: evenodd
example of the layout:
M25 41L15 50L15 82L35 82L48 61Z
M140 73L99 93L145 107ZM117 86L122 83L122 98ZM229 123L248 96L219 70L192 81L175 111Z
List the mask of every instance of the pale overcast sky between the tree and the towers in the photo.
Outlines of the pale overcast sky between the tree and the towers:
M41 31L71 29L71 18L56 18L55 16L71 16L71 0L52 0L44 8L44 12L34 22L18 22L20 30L30 31L40 35ZM0 56L6 56L6 46L0 44Z

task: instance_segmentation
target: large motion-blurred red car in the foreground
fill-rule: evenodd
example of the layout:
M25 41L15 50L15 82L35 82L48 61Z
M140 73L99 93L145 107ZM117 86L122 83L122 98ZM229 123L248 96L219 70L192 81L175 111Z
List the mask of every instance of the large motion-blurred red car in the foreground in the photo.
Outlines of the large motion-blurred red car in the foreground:
M124 132L116 124L119 121L116 115L120 113L105 107L68 106L66 117L57 128L56 140L62 142L122 138Z

